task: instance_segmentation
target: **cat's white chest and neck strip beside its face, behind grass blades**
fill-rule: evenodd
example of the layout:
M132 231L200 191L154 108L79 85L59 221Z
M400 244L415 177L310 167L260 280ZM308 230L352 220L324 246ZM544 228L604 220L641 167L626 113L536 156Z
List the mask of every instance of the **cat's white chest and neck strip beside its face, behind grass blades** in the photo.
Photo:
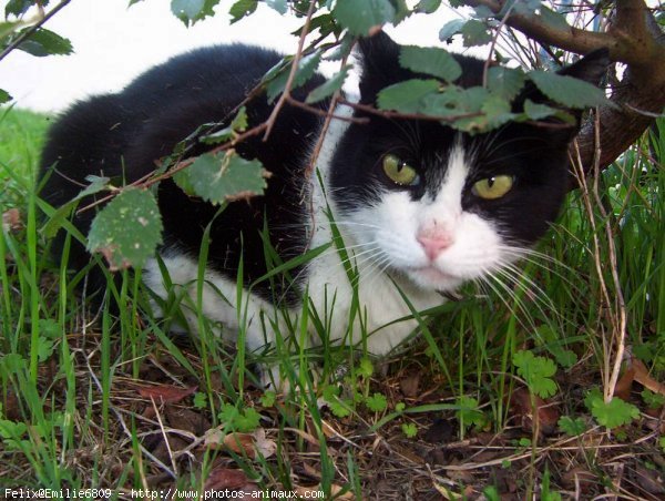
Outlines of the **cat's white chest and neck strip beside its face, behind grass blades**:
M344 114L348 110L340 106L337 112ZM329 326L327 335L331 341L358 345L367 336L367 350L380 356L418 327L417 320L408 318L412 311L398 287L417 311L440 305L443 299L436 292L418 289L387 273L385 263L372 256L371 246L358 245L354 239L352 234L361 231L361 226L345 221L331 197L326 195L330 186L330 164L345 129L341 121L332 122L317 162L318 175L310 183L314 211L310 246L316 248L334 242L332 225L336 225L344 252L332 245L309 263L307 294L314 310L325 319L324 325ZM405 317L408 319L396 321Z

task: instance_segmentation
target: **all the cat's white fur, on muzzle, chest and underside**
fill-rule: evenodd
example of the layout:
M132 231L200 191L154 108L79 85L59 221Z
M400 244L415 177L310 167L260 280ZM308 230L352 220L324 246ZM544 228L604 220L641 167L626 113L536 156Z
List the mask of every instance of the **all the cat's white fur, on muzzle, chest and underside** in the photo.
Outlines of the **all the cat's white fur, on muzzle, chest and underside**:
M339 106L336 114L349 116L351 110ZM361 334L367 333L368 351L381 356L417 328L417 321L412 318L395 323L411 315L396 284L417 310L434 307L443 300L437 290L452 290L462 282L477 278L499 264L502 257L501 238L490 222L462 211L461 193L469 175L469 157L461 146L456 146L448 159L447 175L434 198L424 196L415 202L405 191L389 191L382 193L378 204L341 215L326 192L329 190L331 160L347 127L345 121L331 122L317 160L323 186L318 180L313 180L315 213L310 227L310 248L332 241L330 221L325 212L326 206L330 206L345 247L349 255L356 256L352 264L359 274L357 293L334 247L308 264L307 293L317 315L325 325L330 326L330 341L357 344L362 339ZM420 232L432 227L437 231L444 228L452 241L450 247L433 262L417 239ZM196 305L196 256L166 249L162 253L162 259L171 282L175 286L186 287L191 304ZM392 270L390 274L385 272L386 266ZM395 269L401 272L396 273ZM143 277L160 297L167 296L155 259L147 263ZM207 318L223 324L224 337L234 339L244 323L246 344L253 350L274 341L273 329L264 331L262 324L269 326L274 321L282 326L280 331L286 331L282 315L268 301L244 294L238 309L235 282L209 269L205 272L205 280L202 310ZM355 294L358 295L361 310L350 323ZM183 309L190 327L195 331L197 319L194 309ZM298 313L296 310L293 314ZM313 342L317 342L316 336L313 337Z

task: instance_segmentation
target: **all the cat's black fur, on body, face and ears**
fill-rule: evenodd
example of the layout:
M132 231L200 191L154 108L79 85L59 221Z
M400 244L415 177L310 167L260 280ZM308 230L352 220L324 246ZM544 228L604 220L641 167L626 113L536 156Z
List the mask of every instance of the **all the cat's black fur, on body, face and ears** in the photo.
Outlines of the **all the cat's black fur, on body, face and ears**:
M400 67L398 45L383 33L362 40L360 52L362 103L375 104L377 92L387 85L421 76ZM90 174L121 177L125 183L142 177L200 125L233 117L232 110L279 60L276 52L241 44L202 49L153 68L120 93L75 104L49 132L41 161L42 175L49 174L42 196L52 205L62 205L80 192ZM467 57L457 60L463 69L457 83L481 84L484 62ZM596 83L605 65L606 54L598 53L565 71ZM323 76L316 75L295 91L294 96L304 100L323 81ZM515 110L521 109L525 96L545 101L529 88L515 101ZM320 106L325 109L327 102ZM264 95L250 101L249 125L265 121L270 111ZM342 211L350 212L372 201L377 183L403 190L391 185L380 171L380 159L387 152L397 152L409 163L421 166L424 183L408 188L415 200L442 178L441 157L453 146L457 134L452 129L431 121L386 120L362 112L356 115L369 117L370 123L351 124L332 160L330 195ZM307 245L308 207L303 203L300 187L320 124L320 116L287 106L267 142L255 136L238 145L243 156L258 159L273 176L264 196L233 203L215 221L208 264L213 269L235 280L243 250L245 282L265 274L260 238L264 224L284 260L303 253ZM461 135L464 146L477 150L474 178L501 172L519 180L514 190L500 201L480 201L471 196L467 186L463 208L495 219L507 228L512 242L533 243L560 207L566 184L566 145L575 132L576 127L543 129L515 123L488 136ZM482 149L483 141L487 150ZM204 146L198 146L192 154L204 151ZM216 207L186 196L172 181L161 183L158 204L165 228L164 247L177 247L196 256ZM75 217L82 233L88 233L93 216L94 212L89 211ZM63 242L61 233L54 244L57 254ZM84 247L74 243L70 267L79 269L88 262ZM102 284L98 276L93 287ZM284 293L272 290L267 284L255 292L273 299Z

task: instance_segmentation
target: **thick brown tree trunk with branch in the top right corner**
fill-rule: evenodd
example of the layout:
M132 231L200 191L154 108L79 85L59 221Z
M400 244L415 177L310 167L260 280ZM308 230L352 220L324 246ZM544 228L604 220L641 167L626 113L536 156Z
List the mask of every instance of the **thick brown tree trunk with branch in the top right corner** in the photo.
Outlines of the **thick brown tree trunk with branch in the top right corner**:
M484 6L497 18L505 0L462 0L470 7ZM543 45L576 53L607 48L615 62L627 65L621 84L612 93L615 108L600 109L600 170L608 166L633 144L665 108L665 34L644 0L616 0L616 14L607 32L553 27L535 16L511 14L505 24ZM585 123L577 135L584 174L592 174L595 153L594 124ZM571 151L573 156L575 152ZM576 187L571 184L571 188Z

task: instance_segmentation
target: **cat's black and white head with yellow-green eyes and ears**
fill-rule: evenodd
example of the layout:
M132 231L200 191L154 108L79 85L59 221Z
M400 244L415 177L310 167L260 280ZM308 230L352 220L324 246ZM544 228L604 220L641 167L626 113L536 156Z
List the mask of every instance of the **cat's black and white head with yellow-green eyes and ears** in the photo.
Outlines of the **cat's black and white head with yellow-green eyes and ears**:
M360 57L361 103L375 105L381 89L427 78L400 67L399 45L385 33L361 41ZM481 85L484 61L457 59L456 83ZM607 64L598 52L560 73L597 84ZM546 102L528 85L513 105L525 98ZM509 123L469 135L433 121L356 115L370 121L349 125L332 160L341 226L365 258L422 288L452 290L514 262L560 209L577 126Z

